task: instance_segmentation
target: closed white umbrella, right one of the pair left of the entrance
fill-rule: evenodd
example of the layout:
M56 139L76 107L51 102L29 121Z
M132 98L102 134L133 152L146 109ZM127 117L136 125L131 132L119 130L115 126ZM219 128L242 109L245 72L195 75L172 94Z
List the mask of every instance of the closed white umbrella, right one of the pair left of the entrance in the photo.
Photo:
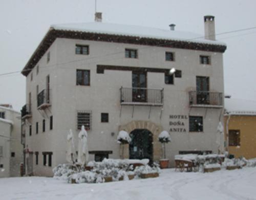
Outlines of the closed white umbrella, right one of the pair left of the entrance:
M87 131L82 126L81 131L78 134L78 155L77 162L81 165L87 164L89 161L89 151L87 144Z

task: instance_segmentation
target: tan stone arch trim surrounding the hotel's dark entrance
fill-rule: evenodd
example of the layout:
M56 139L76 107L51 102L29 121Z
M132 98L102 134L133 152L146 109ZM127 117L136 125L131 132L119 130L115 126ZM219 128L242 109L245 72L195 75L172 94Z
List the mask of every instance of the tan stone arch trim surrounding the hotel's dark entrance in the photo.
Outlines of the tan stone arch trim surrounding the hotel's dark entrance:
M156 124L152 121L143 121L143 120L135 120L131 121L127 124L120 125L118 130L125 130L129 134L135 129L147 129L153 134L153 160L158 161L162 155L162 145L158 141L158 136L160 132L163 130L160 124ZM129 145L125 145L124 147L124 158L129 158Z

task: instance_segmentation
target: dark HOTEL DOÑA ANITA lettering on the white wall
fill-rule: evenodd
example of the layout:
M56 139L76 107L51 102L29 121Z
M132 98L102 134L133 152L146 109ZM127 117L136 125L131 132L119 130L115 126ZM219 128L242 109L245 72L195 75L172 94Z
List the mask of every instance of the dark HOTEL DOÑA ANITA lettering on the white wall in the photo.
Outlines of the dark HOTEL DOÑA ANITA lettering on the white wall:
M187 115L170 115L169 119L170 132L186 132L185 121L188 120Z

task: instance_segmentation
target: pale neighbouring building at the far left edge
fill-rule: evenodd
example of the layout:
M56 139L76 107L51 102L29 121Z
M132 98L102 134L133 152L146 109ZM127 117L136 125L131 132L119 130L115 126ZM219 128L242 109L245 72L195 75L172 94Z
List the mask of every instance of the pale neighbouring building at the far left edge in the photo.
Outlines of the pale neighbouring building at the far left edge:
M9 104L0 105L0 177L19 176L23 162L20 144L20 113Z

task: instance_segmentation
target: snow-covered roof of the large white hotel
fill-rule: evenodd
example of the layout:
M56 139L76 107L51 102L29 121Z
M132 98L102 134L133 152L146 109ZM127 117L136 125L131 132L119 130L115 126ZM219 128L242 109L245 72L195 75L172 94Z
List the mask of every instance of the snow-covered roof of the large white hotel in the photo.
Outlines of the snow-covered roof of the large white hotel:
M121 36L135 36L145 37L152 39L168 39L177 41L190 41L197 43L207 43L210 45L224 45L225 43L204 39L204 36L196 33L182 32L182 31L171 31L169 29L158 29L143 26L134 25L120 25L110 23L76 23L76 24L59 24L52 25L51 28L55 30L65 31L81 31L88 33L99 33L99 34L112 34Z

